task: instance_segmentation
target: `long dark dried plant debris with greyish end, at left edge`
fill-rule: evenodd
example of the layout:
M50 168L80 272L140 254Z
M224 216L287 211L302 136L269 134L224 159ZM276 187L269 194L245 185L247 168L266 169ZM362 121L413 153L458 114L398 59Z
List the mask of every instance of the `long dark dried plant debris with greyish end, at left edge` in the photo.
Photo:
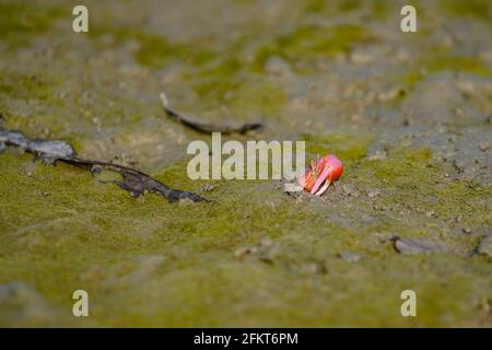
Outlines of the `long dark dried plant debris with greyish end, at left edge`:
M19 147L25 152L34 154L36 159L42 160L44 163L54 164L59 161L85 168L94 175L99 174L103 171L120 175L118 178L112 178L107 182L118 185L134 197L139 197L145 192L152 192L166 198L171 202L180 199L207 201L197 194L169 188L157 179L137 170L110 162L80 159L75 155L72 145L65 141L34 140L27 138L21 131L7 130L0 127L0 150L1 144Z

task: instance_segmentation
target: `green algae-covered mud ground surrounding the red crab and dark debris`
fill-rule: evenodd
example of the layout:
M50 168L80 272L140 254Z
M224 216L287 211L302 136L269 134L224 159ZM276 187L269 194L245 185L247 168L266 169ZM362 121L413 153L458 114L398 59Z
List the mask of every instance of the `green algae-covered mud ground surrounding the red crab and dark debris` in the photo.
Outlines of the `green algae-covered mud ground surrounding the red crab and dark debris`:
M0 1L1 127L208 200L134 198L0 142L1 326L492 327L490 1L93 0L89 33L77 4ZM210 136L162 92L263 126L224 141L304 140L343 175L321 197L191 180Z

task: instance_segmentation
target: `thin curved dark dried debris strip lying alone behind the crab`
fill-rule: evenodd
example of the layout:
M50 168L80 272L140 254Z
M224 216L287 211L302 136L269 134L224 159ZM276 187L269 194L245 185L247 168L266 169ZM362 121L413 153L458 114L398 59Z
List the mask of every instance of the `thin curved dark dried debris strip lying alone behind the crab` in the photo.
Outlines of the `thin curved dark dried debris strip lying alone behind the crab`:
M238 127L232 127L227 125L213 125L213 124L191 121L190 118L183 116L180 113L176 112L171 107L169 101L167 100L167 96L164 93L161 94L161 100L164 107L164 112L171 119L176 120L183 124L184 126L198 132L202 133L222 132L223 135L230 133L244 135L248 131L259 130L263 127L263 125L260 122L246 122Z

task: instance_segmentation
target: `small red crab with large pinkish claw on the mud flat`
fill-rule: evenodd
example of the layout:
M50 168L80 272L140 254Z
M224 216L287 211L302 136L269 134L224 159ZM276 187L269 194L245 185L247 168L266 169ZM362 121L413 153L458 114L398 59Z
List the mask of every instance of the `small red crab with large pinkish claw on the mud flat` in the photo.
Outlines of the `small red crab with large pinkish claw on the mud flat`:
M342 173L342 162L335 155L328 154L313 162L300 176L298 184L305 191L321 196L333 182L340 178Z

